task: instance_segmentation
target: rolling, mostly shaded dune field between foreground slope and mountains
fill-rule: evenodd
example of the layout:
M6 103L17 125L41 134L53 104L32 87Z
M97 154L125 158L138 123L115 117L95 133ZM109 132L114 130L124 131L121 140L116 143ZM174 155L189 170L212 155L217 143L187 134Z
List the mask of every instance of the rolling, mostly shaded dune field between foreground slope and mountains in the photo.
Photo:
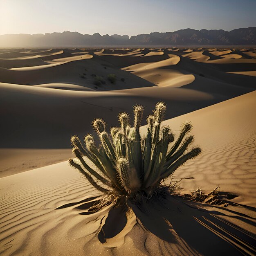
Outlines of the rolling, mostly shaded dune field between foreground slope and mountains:
M117 115L119 111L130 112L131 106L136 103L152 108L161 99L172 109L166 114L167 118L171 118L255 90L256 80L252 75L256 66L253 62L246 62L255 59L226 60L212 55L221 59L198 61L191 59L191 56L205 58L205 49L190 49L193 51L189 53L184 52L187 49L177 50L105 49L104 52L110 55L97 56L94 52L100 52L101 49L82 49L88 54L74 56L72 53L78 52L78 49L44 49L43 52L34 50L27 54L55 55L5 60L5 66L0 67L0 82L4 82L0 85L0 104L4 109L1 118L7 121L1 131L7 136L1 141L1 147L13 150L20 148L19 152L22 148L68 148L69 141L66 138L77 129L80 133L90 132L90 122L100 114L107 117L109 124L115 125L116 120L109 117L110 113ZM58 54L61 51L63 53ZM164 54L146 57L136 54L150 51ZM125 53L133 55L111 56ZM182 56L184 54L190 55ZM93 58L86 59L88 56ZM214 62L223 60L229 63ZM7 64L7 61L12 64ZM47 68L40 67L43 64ZM17 65L22 69L10 70L7 65ZM117 81L114 84L108 81L108 74L116 74ZM96 75L101 76L106 83L95 85ZM35 103L40 104L35 106ZM81 115L85 118L81 119ZM71 121L76 123L75 127L69 124ZM20 126L18 131L17 125ZM24 134L28 134L29 140ZM44 155L44 152L41 154ZM57 151L54 155L58 159ZM46 156L33 166L47 164ZM0 161L2 159L0 157ZM19 166L20 170L29 169L23 168L22 162L17 162L13 170L18 171ZM6 169L1 170L5 172Z

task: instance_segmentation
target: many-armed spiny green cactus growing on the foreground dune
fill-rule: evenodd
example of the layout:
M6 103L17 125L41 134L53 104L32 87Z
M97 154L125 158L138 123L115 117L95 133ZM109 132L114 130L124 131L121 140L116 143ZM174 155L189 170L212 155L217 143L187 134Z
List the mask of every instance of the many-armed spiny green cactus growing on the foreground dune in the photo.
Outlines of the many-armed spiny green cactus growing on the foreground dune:
M138 195L149 197L164 179L201 153L199 147L188 151L194 140L192 135L186 137L193 128L190 123L182 125L176 141L171 128L161 125L166 112L166 104L161 101L156 104L153 115L147 117L148 128L142 138L139 129L143 110L140 105L134 106L133 127L129 115L120 113L120 128L112 127L111 136L106 131L105 121L94 119L92 127L99 136L99 148L90 134L84 138L85 146L77 136L71 138L76 159L70 159L70 165L102 193L115 193L127 199L141 198Z

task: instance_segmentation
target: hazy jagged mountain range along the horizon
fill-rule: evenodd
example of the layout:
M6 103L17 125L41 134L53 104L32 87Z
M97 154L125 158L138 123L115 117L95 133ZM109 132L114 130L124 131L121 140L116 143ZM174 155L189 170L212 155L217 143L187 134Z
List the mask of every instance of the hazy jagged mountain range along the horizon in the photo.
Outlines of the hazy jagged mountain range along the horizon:
M5 34L0 47L86 47L86 46L173 46L173 45L256 45L256 27L231 31L222 29L180 29L175 32L153 32L137 36L101 36L64 31L51 34Z

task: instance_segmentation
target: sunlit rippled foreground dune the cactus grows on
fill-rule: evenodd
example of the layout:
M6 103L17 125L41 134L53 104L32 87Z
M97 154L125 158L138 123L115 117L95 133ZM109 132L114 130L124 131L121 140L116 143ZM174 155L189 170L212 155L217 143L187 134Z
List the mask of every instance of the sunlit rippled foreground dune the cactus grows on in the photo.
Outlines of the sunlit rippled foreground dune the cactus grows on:
M202 208L170 198L169 209L149 205L146 215L132 205L139 223L135 224L132 212L124 225L122 214L116 215L121 228L106 229L107 243L101 244L97 233L108 209L87 215L86 208L98 194L63 162L0 179L1 254L254 254L255 96L251 92L165 121L174 132L182 121L192 121L196 141L203 148L197 161L175 173L195 177L182 181L183 193L198 186L210 191L218 182L222 191L238 195L232 200L237 207ZM218 246L209 251L209 244L202 241Z

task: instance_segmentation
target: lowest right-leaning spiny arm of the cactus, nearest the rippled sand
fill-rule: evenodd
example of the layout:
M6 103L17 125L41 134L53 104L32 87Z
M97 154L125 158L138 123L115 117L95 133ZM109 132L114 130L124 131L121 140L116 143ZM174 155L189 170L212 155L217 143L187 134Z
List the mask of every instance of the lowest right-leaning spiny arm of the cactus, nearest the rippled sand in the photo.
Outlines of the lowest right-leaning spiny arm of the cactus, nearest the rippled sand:
M163 179L167 178L168 176L170 176L171 174L173 174L173 172L179 168L180 166L182 166L182 164L184 164L186 161L188 161L189 159L192 159L196 156L198 156L201 153L201 149L200 148L193 148L189 153L183 155L182 157L180 157L179 159L177 159L176 162L174 162L168 169L166 172L164 172L159 179L159 182L161 182Z

